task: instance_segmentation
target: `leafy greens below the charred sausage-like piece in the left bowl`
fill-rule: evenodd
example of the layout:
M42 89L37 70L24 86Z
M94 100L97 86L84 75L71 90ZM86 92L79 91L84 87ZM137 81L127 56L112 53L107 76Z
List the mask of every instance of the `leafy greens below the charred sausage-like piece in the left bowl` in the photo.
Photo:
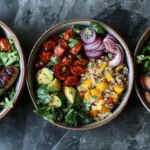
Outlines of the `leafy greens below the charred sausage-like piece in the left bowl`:
M14 88L5 93L2 102L0 102L0 108L13 108L14 95L15 95Z

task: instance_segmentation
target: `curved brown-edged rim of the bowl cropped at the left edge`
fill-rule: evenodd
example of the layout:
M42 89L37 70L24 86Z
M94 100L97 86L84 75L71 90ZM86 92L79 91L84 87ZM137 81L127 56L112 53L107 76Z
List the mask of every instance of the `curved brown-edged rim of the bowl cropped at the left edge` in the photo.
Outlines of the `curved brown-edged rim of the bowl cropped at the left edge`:
M25 85L25 78L26 78L26 61L25 61L25 57L24 57L24 53L23 53L23 49L21 47L21 44L16 36L16 34L12 31L12 29L10 29L10 27L8 27L8 25L6 25L2 20L0 20L0 26L3 26L12 36L15 44L18 46L19 49L17 49L17 51L20 52L20 55L22 58L22 76L21 76L21 82L19 85L19 90L15 92L15 97L13 98L13 102L14 102L14 106L16 105L21 92L24 88ZM14 107L13 107L14 108ZM4 113L2 113L2 115L0 115L0 120L3 119L13 108L7 108L6 111Z

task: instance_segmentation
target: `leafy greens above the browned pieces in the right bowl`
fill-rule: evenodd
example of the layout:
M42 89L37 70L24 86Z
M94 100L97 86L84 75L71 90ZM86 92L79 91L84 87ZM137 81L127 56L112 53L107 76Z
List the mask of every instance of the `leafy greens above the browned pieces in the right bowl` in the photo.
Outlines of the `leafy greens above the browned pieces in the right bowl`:
M137 56L137 63L143 66L143 71L150 70L150 41L143 46L142 54Z

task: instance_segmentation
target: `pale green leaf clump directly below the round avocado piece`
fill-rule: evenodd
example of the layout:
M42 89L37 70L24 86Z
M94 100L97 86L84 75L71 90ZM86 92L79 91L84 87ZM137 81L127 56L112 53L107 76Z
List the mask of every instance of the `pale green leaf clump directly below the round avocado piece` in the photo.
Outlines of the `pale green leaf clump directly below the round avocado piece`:
M49 90L47 88L47 86L45 85L41 85L38 89L37 89L37 104L47 104L50 102L51 100L51 96L49 94Z

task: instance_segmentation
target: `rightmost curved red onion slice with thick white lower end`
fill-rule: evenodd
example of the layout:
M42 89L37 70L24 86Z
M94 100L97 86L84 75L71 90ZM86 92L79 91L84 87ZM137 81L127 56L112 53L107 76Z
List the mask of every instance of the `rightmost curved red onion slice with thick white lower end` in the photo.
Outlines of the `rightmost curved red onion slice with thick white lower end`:
M124 59L124 53L122 47L119 44L113 44L113 47L115 47L115 51L117 52L117 54L114 59L109 61L110 67L116 67L120 65Z

